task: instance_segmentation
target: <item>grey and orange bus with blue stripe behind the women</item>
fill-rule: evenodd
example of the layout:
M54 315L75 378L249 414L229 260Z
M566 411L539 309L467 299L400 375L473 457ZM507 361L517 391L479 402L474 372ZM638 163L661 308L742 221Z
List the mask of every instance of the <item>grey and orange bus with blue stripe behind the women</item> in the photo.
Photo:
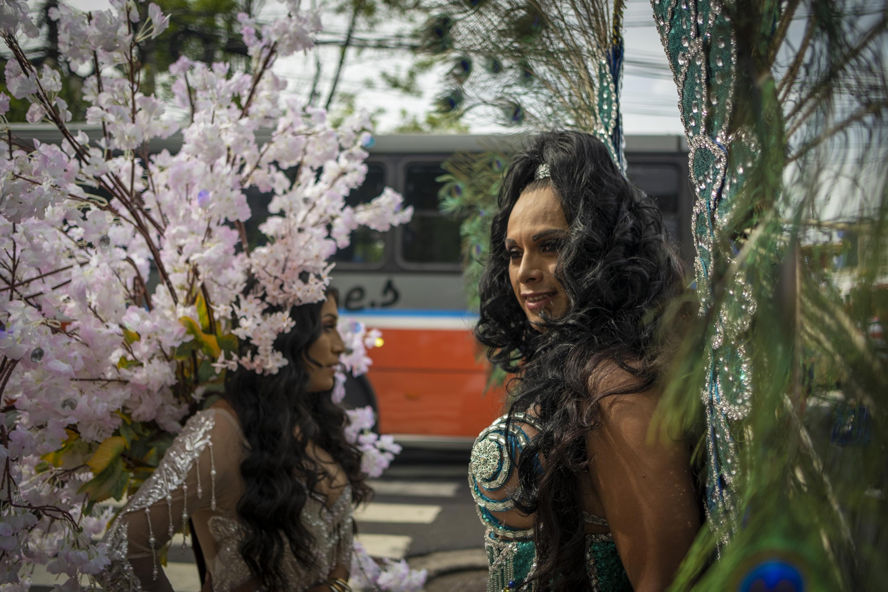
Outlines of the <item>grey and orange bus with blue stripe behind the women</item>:
M387 233L361 229L334 260L341 314L383 332L369 351L369 373L346 383L346 401L372 405L377 428L401 444L471 446L503 413L502 388L486 390L489 367L472 338L466 310L459 220L438 207L441 163L456 152L514 145L496 136L393 135L375 138L364 184L350 205L390 186L414 208L407 225ZM687 144L683 136L628 136L628 174L654 197L686 259L693 255ZM257 211L254 209L254 211Z

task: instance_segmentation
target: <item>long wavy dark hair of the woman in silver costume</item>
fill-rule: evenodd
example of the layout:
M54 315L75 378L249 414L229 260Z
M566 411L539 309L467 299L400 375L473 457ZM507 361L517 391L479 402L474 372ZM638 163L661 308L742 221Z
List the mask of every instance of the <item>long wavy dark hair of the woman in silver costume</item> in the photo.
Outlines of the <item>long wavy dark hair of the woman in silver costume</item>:
M327 297L338 301L333 289ZM342 467L355 503L370 495L361 474L361 453L345 440L345 412L333 403L329 391L306 391L306 353L321 335L322 305L290 309L296 326L274 342L274 349L287 359L286 366L275 375L258 375L240 367L228 374L223 394L250 443L241 463L245 490L237 504L238 517L247 529L241 556L263 586L272 590L286 588L282 559L287 547L300 564L315 563L313 537L300 518L308 495L322 499L317 485L323 473L305 453L306 442L320 446ZM279 310L269 307L266 312ZM242 345L242 349L245 353L250 347Z

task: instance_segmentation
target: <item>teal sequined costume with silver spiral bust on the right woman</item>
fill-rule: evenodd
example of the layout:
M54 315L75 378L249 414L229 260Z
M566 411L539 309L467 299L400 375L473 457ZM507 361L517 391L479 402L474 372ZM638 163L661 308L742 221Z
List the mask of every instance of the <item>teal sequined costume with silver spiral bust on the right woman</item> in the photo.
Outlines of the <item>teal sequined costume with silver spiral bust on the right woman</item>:
M488 592L521 589L536 565L536 549L533 529L519 530L504 525L491 512L507 511L514 507L509 498L494 500L481 491L495 492L509 480L513 459L527 446L529 437L522 424L540 429L539 420L528 414L508 415L482 431L472 446L472 462L469 465L469 487L478 503L478 517L487 531L484 547L488 553ZM479 487L480 485L480 487ZM603 518L584 514L585 520L607 526ZM626 571L617 554L610 533L586 535L586 572L591 592L623 592L632 589ZM531 588L536 589L536 588Z

